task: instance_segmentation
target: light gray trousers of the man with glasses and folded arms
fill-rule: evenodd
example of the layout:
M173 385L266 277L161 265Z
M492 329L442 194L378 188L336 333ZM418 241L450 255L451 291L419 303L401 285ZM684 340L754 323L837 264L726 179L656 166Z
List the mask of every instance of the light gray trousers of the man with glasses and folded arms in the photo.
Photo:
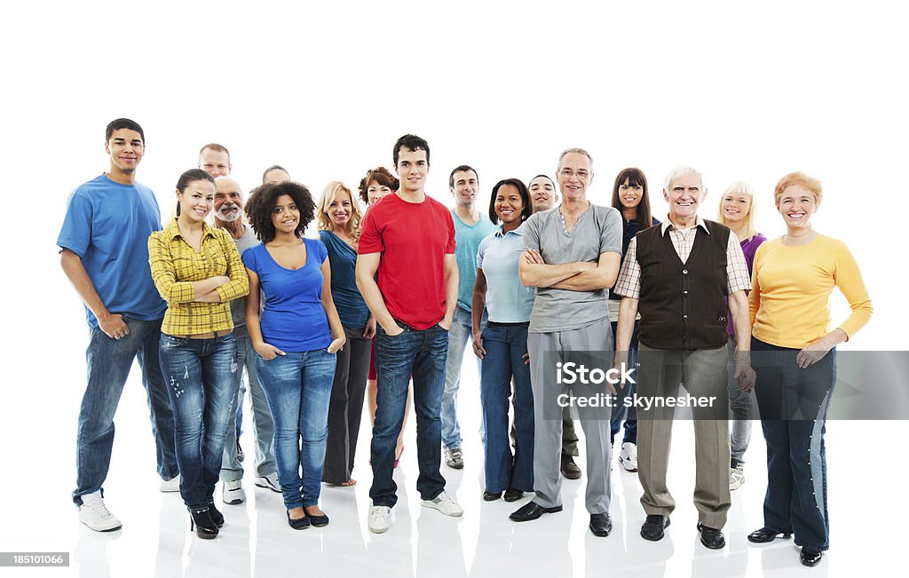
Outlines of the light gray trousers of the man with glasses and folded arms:
M612 341L613 332L608 317L580 329L527 335L531 384L534 389L534 502L544 508L562 504L562 476L559 467L563 423L557 395L567 393L567 385L556 384L555 363L572 361L573 352L603 352L608 355ZM608 408L598 412L581 412L580 421L587 452L587 491L584 501L589 513L609 512L612 497L609 481L609 417Z

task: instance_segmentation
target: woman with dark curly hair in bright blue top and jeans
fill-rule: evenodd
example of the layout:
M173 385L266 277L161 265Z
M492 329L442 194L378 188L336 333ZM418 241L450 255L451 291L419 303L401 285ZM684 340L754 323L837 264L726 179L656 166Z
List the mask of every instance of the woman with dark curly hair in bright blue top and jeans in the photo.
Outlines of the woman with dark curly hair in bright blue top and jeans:
M319 491L335 353L345 344L325 244L303 236L314 210L313 197L302 184L258 187L246 215L262 244L243 254L250 287L246 326L258 354L256 374L275 420L278 482L287 523L295 530L328 523L318 505ZM265 294L261 315L260 288Z

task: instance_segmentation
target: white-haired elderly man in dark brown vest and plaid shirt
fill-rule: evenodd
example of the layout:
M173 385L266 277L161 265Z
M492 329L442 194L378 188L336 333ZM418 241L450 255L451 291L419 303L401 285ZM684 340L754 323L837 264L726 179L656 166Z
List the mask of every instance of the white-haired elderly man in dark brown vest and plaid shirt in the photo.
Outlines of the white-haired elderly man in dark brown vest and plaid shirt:
M751 327L745 292L751 289L742 247L727 227L705 221L697 210L707 191L700 173L675 169L663 189L669 216L638 233L625 255L615 292L624 296L616 330L616 367L627 359L634 318L640 311L637 368L638 477L647 513L641 535L661 540L675 502L666 468L676 406L694 414L694 505L701 543L725 544L721 529L729 510L729 425L726 354L728 314L733 317L735 375L754 384L749 356ZM679 384L687 396L679 396ZM649 403L649 405L648 405Z

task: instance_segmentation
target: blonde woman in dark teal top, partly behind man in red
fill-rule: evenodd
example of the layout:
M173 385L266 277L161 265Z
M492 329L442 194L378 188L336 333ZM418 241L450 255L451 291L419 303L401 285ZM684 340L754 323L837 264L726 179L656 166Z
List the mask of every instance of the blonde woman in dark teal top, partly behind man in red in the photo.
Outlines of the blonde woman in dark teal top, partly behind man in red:
M337 354L322 480L347 487L356 484L351 473L363 415L375 319L356 288L356 249L363 215L350 189L337 181L326 184L319 197L317 214L319 238L325 244L331 264L332 297L347 338Z

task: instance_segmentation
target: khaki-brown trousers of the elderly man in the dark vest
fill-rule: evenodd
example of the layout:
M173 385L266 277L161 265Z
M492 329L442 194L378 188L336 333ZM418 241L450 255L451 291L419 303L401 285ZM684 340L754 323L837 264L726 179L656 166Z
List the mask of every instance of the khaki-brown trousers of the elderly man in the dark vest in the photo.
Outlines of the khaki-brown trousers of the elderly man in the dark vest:
M729 495L729 421L726 394L726 347L694 352L638 350L639 397L676 397L679 384L689 394L715 397L711 408L692 408L694 414L694 506L698 521L720 529L731 505ZM675 501L666 486L674 407L638 408L637 473L649 514L669 515Z

